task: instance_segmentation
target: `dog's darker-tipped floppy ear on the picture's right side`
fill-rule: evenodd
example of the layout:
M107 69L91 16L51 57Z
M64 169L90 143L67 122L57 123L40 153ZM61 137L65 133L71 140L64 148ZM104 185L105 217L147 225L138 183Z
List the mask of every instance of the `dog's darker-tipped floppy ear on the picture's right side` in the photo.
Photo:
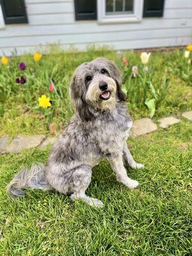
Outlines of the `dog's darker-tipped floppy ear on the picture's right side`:
M120 70L116 67L115 63L112 61L108 62L110 76L115 80L116 83L116 95L120 101L126 101L125 93L122 91L122 79Z

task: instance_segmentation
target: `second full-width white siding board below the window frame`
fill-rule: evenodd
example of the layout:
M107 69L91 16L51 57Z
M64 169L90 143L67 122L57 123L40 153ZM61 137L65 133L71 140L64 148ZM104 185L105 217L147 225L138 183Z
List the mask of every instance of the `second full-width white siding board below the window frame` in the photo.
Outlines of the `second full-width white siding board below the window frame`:
M177 36L188 36L192 35L192 28L185 29L168 29L169 37L177 37ZM60 44L72 44L76 42L77 44L82 43L92 43L92 42L105 42L110 43L111 38L115 41L130 41L130 40L143 40L148 38L166 38L167 35L164 29L156 29L156 30L143 30L141 31L118 31L114 32L106 32L106 33L87 33L82 36L82 34L70 34L70 35L45 35L45 36L37 36L34 38L33 36L28 36L28 38L23 37L15 37L13 40L10 40L9 46L19 47L19 45L33 45L34 41L36 44L53 44L54 42L58 42ZM7 46L7 38L2 38L0 40L0 47Z

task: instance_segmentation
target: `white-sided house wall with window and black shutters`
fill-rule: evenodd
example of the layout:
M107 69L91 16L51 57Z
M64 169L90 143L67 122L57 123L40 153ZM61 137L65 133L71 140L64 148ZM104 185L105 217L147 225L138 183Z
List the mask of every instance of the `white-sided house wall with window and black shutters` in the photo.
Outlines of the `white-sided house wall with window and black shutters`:
M0 54L37 45L115 49L192 42L192 0L0 0Z

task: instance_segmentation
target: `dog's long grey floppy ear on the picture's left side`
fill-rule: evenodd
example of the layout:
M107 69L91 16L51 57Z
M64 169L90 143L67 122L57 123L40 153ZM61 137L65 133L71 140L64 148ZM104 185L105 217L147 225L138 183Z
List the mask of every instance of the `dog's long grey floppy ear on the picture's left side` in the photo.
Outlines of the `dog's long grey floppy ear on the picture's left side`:
M79 114L81 120L89 121L94 118L93 113L88 108L84 100L84 86L83 81L77 79L77 70L72 77L72 81L70 83L70 101L75 108L75 111Z

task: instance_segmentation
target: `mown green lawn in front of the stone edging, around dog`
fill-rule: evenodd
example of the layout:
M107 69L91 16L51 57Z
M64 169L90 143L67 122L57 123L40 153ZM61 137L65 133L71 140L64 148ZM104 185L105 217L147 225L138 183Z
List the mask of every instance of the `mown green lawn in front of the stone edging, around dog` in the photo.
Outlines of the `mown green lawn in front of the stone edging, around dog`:
M169 129L128 140L145 164L127 169L138 189L118 183L106 161L93 168L87 194L102 200L102 209L56 191L10 198L6 186L13 175L45 162L49 149L0 156L0 255L191 255L191 129L182 118Z

